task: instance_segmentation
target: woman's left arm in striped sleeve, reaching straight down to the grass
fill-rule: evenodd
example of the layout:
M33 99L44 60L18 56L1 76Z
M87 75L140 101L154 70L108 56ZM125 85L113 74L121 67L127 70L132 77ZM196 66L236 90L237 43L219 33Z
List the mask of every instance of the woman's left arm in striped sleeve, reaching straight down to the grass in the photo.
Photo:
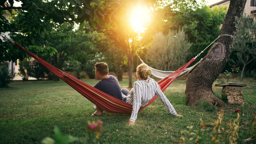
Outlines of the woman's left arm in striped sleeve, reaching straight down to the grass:
M132 109L132 115L130 118L130 121L132 121L134 123L135 123L135 120L137 119L138 111L141 106L141 92L142 92L141 87L137 83L134 83L133 107L132 107L133 109ZM129 123L129 125L130 125L130 123Z

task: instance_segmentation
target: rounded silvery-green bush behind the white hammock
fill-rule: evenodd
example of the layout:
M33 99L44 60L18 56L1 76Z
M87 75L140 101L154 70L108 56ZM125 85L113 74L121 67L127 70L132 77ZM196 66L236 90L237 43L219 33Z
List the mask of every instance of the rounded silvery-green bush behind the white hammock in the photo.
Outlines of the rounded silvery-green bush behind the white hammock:
M191 43L183 29L162 32L153 37L153 43L146 54L147 64L159 70L175 70L185 65Z

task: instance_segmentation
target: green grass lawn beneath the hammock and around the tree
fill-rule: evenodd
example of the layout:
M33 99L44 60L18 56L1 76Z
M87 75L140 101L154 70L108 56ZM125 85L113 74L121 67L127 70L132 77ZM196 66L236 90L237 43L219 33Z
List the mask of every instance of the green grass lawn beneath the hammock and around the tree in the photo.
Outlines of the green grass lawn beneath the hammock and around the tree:
M95 85L99 80L82 81ZM242 122L248 127L256 111L256 81L252 78L230 79L230 83L233 82L247 84L243 87L243 108L238 104L223 108L205 107L204 103L186 106L186 79L176 79L164 94L183 117L168 114L157 99L138 114L135 126L131 127L127 124L131 115L105 112L102 117L91 117L93 103L63 81L16 81L10 87L0 89L0 143L41 143L45 137L55 139L55 125L63 135L83 140L87 139L84 129L87 122L98 119L103 122L100 143L179 143L181 131L188 130L187 126L197 130L200 118L204 122L217 121L221 109L224 110L223 127L227 128L226 123L234 121L233 111L237 108L243 111ZM120 84L121 87L128 86L128 79L123 79ZM221 90L222 87L213 86L215 94L221 95ZM212 127L208 128L210 134ZM205 138L205 141L210 143L211 138ZM195 143L195 139L191 143Z

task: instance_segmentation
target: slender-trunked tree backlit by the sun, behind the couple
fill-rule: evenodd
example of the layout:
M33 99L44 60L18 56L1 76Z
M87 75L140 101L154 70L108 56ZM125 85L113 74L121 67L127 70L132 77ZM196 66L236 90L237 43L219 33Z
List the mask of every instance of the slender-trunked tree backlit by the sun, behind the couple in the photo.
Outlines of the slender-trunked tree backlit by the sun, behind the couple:
M140 3L141 2L141 3ZM153 1L154 2L154 1ZM133 56L136 51L141 47L142 38L145 38L146 33L139 33L134 31L131 19L134 17L132 12L136 10L139 5L145 7L147 1L123 1L117 4L116 12L108 15L109 29L104 28L102 23L97 23L97 26L102 33L112 39L117 47L121 47L123 53L127 55L129 61L129 87L132 87L132 70L133 70ZM137 13L139 14L139 13ZM145 16L146 17L146 16ZM144 27L149 28L150 23L146 23Z

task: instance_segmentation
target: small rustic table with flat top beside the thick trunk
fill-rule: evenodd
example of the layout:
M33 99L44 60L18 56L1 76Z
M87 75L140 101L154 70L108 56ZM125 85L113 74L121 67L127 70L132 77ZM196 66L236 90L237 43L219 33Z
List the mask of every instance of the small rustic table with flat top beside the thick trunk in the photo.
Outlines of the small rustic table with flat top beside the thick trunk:
M228 99L228 103L244 104L244 93L242 92L242 87L245 87L246 84L225 83L215 84L215 86L223 86L222 97L226 97Z

